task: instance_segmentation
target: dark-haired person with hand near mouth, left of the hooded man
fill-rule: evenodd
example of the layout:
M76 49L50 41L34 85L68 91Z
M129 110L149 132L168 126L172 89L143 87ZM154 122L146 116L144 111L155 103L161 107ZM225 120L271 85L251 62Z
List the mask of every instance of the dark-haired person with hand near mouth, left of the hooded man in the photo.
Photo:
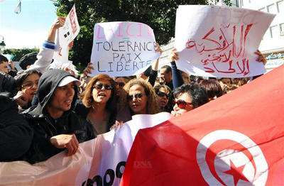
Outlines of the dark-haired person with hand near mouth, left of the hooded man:
M31 107L31 102L38 89L38 81L41 73L37 70L27 70L18 72L16 79L16 90L18 93L13 99L18 104L19 112L22 112Z

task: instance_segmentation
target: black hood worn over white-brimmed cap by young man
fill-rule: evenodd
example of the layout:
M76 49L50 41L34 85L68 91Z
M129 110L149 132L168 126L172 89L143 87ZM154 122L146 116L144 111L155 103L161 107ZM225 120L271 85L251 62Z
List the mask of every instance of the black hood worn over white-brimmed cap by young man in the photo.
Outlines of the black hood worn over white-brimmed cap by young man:
M53 70L48 70L43 75L40 77L40 80L38 82L38 90L37 90L37 95L38 95L38 101L39 104L37 108L34 110L36 114L44 114L45 116L48 115L46 111L46 106L47 103L50 101L51 97L53 96L53 92L55 92L56 87L58 87L58 84L60 81L67 76L72 76L69 72L66 72L65 70L59 70L59 69L53 69ZM66 111L65 114L70 113L75 107L75 102L77 99L77 86L75 86L75 94L72 100L72 106L69 111ZM39 113L39 111L41 113ZM32 111L33 112L33 111Z

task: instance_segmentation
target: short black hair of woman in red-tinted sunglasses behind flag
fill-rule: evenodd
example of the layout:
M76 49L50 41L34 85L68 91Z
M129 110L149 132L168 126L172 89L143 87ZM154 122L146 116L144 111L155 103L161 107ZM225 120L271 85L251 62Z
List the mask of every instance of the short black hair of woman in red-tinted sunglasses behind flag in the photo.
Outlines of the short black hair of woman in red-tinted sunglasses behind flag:
M190 96L194 108L209 102L206 89L195 82L182 84L182 86L173 91L173 96L178 98L183 93L187 93Z

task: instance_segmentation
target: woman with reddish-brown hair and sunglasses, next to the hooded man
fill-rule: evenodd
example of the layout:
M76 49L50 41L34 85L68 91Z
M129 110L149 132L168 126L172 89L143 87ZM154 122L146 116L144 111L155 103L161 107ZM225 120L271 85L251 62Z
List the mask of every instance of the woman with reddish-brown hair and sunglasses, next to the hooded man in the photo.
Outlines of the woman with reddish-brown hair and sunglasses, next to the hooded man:
M97 75L81 95L85 108L77 104L75 111L89 121L99 135L109 131L116 119L116 83L108 75Z

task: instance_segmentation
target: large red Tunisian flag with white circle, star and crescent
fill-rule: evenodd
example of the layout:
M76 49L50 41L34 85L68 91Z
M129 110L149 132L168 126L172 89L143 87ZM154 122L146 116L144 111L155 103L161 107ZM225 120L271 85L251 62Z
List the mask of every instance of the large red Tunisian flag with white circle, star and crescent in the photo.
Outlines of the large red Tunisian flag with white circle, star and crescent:
M138 131L121 185L284 185L284 65Z

